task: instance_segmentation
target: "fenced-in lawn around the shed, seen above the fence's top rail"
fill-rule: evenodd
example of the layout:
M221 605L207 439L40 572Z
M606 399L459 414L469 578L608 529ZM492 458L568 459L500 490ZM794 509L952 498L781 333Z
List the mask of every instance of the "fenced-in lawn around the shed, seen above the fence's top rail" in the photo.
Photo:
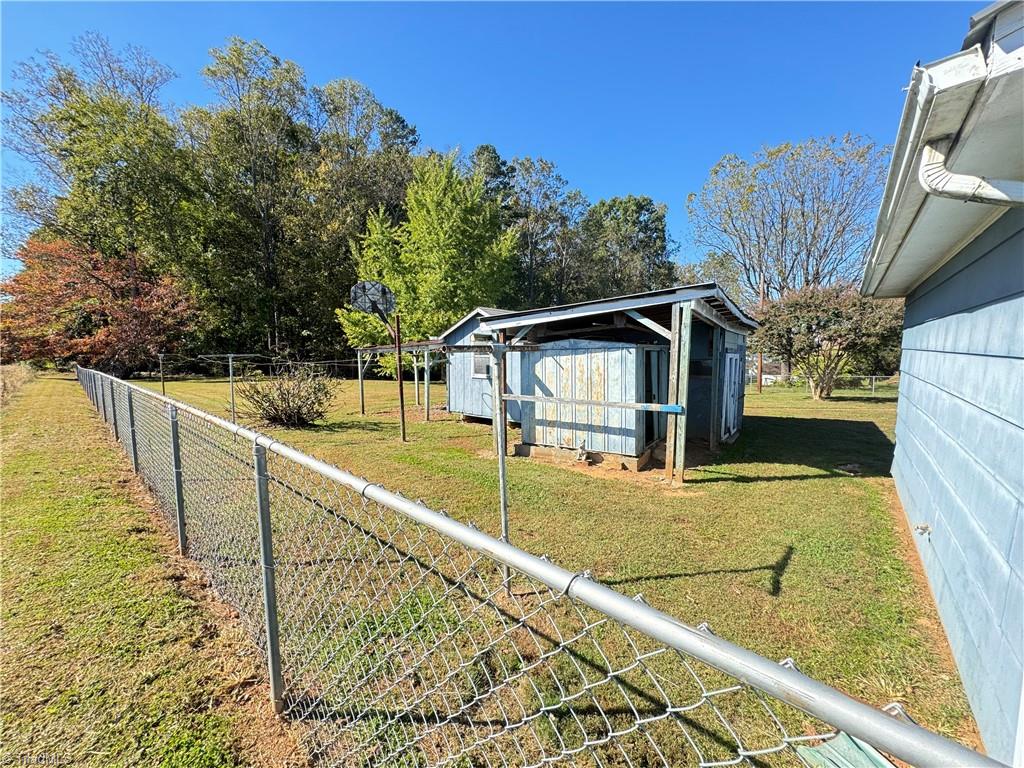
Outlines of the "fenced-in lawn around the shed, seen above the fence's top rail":
M159 384L146 384L159 389ZM177 381L169 395L227 413L223 380ZM433 390L443 403L443 387ZM344 382L326 423L275 436L492 534L497 479L486 425L406 393L398 440L393 382L368 382L360 416ZM978 744L970 712L888 477L895 400L766 389L743 431L681 488L630 474L510 459L512 540L589 568L628 594L876 705L906 702L925 725ZM844 469L841 469L843 467Z

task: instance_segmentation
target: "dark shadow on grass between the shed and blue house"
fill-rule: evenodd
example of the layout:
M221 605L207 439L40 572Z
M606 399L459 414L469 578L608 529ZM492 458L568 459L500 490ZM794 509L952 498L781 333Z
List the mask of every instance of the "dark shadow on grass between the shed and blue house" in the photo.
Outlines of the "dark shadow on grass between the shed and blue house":
M723 450L719 464L792 464L819 472L744 475L712 466L701 470L719 476L695 477L688 479L687 484L822 479L850 475L888 477L892 459L892 440L870 421L744 416L739 439Z

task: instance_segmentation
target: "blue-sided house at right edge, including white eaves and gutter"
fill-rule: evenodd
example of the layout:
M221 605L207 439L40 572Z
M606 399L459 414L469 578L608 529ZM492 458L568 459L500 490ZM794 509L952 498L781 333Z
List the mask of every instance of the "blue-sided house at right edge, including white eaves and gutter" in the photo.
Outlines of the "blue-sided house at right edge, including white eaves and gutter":
M915 67L861 290L905 297L893 478L988 753L1024 765L1024 6Z

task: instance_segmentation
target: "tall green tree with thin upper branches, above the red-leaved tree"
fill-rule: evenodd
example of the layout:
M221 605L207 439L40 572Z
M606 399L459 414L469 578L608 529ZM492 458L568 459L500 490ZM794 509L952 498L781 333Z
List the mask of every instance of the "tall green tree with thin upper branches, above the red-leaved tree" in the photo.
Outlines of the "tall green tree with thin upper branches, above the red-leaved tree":
M5 205L24 234L63 243L69 273L131 300L197 247L187 159L159 102L173 75L96 35L77 39L73 56L22 63L3 93L5 145L34 171Z

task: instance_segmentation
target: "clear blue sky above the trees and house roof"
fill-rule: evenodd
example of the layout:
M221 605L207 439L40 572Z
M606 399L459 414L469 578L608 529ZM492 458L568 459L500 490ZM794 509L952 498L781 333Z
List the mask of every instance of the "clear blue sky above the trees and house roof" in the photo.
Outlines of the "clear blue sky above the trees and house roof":
M204 102L209 49L259 39L311 83L361 81L429 146L493 143L555 162L591 200L667 203L689 260L686 196L719 158L847 131L892 141L911 67L957 50L982 7L5 0L2 76L6 86L15 62L96 31L173 68L172 102Z

